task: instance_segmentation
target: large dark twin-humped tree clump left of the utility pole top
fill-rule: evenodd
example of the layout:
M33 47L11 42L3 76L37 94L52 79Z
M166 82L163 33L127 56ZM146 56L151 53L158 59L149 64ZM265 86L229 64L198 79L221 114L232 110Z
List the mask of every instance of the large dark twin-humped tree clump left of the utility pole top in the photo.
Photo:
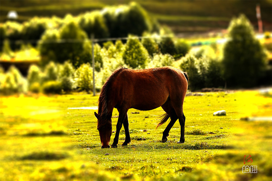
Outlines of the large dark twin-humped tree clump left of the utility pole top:
M86 38L86 33L72 20L64 24L59 31L47 30L39 43L42 64L46 65L51 60L60 63L70 60L74 66L80 65ZM57 42L60 39L71 41ZM53 41L50 42L51 40Z

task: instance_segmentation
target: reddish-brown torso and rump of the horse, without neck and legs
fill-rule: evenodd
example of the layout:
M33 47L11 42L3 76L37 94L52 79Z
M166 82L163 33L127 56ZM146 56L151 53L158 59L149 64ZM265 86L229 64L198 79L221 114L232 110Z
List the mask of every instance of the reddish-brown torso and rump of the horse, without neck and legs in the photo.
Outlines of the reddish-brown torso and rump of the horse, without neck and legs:
M131 108L152 110L163 105L170 94L186 94L188 83L183 71L166 66L142 70L124 69L116 80L124 101Z

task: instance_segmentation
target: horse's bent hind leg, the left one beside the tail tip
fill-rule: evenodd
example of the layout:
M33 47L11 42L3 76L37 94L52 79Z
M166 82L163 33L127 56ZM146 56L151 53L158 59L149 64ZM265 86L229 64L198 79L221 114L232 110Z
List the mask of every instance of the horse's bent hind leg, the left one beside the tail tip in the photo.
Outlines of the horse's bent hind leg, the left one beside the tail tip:
M173 125L175 124L176 120L178 119L176 112L170 102L170 100L167 100L164 105L161 106L163 108L163 110L170 116L170 122L169 124L166 126L164 132L163 132L163 137L161 139L161 141L164 143L167 141L167 136L169 136L169 131L170 129L173 127Z

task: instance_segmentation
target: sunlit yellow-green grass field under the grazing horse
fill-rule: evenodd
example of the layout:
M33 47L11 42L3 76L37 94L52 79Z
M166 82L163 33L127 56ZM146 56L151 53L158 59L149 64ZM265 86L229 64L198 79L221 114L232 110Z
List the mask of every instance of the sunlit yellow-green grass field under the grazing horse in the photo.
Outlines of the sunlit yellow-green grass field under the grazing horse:
M118 148L110 149L101 149L95 110L68 109L97 106L98 96L1 97L0 180L271 180L271 121L240 119L271 117L271 90L195 95L185 98L184 144L176 143L178 122L168 141L160 142L166 127L155 130L161 108L131 109L131 144L120 146L121 129ZM213 116L218 110L227 115ZM257 173L242 173L244 165L257 166Z

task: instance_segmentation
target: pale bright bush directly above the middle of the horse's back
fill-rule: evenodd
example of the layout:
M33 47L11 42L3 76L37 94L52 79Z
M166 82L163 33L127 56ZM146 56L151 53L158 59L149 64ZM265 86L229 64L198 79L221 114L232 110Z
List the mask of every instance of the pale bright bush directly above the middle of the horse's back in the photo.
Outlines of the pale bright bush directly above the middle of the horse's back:
M148 63L147 68L172 66L175 59L169 54L154 54L153 59Z

